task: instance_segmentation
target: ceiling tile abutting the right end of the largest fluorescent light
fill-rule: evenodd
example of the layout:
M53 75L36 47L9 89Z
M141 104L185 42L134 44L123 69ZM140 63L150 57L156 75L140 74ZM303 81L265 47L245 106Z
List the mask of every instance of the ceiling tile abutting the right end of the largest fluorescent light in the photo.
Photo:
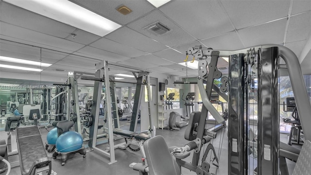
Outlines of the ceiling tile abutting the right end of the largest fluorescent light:
M118 29L105 37L147 53L154 53L167 48L163 44L127 27Z

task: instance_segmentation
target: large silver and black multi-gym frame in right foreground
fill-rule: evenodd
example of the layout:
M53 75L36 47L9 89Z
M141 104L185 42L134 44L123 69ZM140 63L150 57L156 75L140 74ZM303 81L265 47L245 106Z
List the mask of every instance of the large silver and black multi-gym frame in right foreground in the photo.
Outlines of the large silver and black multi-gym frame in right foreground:
M228 174L247 175L248 155L248 119L244 120L244 113L248 117L248 93L254 84L254 78L258 76L258 175L278 175L282 171L278 159L282 154L279 144L279 103L278 103L278 70L287 69L292 83L297 110L299 112L302 128L306 140L311 140L310 116L311 105L308 93L296 55L286 47L274 44L259 45L250 49L237 51L220 51L195 46L187 51L187 55L193 55L199 59L198 86L203 100L202 113L198 126L192 163L182 166L194 170L198 167L201 145L204 138L204 127L209 111L216 121L221 122L220 115L215 113L215 108L208 102L213 88L214 78L220 78L221 72L217 69L219 57L229 57L229 75L223 77L221 92L229 92L229 130L228 130ZM210 58L207 63L207 58ZM279 64L279 57L285 61L285 65ZM193 58L193 59L194 59ZM258 68L258 69L257 69ZM204 90L203 79L207 79ZM202 88L203 87L203 88ZM245 100L244 100L245 99ZM246 109L245 109L246 108ZM275 117L272 117L275 116ZM276 117L277 116L277 117ZM204 124L201 124L204 123ZM246 136L246 137L245 137ZM281 158L281 157L280 157ZM287 172L288 173L288 172ZM283 173L282 173L283 175Z

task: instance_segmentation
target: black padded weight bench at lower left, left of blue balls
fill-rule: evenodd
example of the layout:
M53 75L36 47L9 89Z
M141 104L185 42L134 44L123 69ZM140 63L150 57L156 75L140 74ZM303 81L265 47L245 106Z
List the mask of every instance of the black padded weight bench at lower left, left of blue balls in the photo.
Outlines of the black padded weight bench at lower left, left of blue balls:
M35 125L17 127L17 149L22 175L51 175L52 162Z

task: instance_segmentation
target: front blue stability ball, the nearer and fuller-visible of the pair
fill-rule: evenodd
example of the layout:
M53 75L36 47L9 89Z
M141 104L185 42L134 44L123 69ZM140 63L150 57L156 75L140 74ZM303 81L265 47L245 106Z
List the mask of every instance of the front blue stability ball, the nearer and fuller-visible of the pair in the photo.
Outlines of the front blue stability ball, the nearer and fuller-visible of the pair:
M82 136L75 131L68 131L60 135L56 140L56 150L58 152L73 152L82 148Z

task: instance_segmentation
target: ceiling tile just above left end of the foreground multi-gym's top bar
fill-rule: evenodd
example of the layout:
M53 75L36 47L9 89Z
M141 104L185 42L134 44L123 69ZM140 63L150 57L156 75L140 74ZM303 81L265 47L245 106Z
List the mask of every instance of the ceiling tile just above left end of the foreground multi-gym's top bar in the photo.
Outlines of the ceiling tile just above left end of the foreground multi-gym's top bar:
M238 50L244 48L235 31L201 40L208 48L216 50Z

